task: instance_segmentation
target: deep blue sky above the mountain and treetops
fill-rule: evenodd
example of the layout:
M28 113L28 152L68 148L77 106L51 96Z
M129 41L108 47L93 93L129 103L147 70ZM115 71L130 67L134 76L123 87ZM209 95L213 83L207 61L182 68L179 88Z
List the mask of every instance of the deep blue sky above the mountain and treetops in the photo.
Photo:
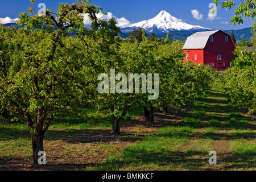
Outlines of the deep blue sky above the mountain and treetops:
M56 7L59 3L72 3L73 1L38 0L35 4L45 3L47 9L56 11ZM102 11L110 13L110 15L114 16L116 19L123 18L123 20L126 21L125 23L137 23L142 20L154 18L161 10L166 10L172 16L182 19L186 23L207 28L238 30L253 26L253 23L247 19L244 19L242 26L230 26L229 22L234 15L234 10L218 10L217 16L209 19L209 4L212 3L212 1L213 0L92 0L91 3L102 7ZM235 0L235 2L238 4L240 1ZM0 23L19 18L19 13L26 11L29 6L31 6L30 0L0 0ZM7 19L6 17L10 18Z

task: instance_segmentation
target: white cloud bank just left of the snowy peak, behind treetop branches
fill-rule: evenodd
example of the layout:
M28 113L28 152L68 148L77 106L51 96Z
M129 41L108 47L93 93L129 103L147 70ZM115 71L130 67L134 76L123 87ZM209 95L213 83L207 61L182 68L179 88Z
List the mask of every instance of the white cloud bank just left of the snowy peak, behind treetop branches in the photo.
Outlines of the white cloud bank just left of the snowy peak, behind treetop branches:
M110 20L111 18L114 18L117 21L117 27L121 27L121 28L130 24L130 21L127 20L125 17L116 18L110 12L108 12L106 15L100 12L100 13L96 14L96 16L97 16L98 19L101 19L101 20L105 19L107 21ZM84 24L89 25L91 23L92 22L90 21L88 14L84 14Z

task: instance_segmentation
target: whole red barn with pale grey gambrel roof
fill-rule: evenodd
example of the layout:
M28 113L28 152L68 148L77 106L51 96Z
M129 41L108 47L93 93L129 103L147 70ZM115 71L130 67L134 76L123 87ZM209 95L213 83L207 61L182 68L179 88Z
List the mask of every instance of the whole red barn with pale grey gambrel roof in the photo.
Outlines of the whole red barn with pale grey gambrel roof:
M212 66L217 71L230 67L234 43L230 35L221 30L196 32L189 36L182 48L186 56L184 61Z

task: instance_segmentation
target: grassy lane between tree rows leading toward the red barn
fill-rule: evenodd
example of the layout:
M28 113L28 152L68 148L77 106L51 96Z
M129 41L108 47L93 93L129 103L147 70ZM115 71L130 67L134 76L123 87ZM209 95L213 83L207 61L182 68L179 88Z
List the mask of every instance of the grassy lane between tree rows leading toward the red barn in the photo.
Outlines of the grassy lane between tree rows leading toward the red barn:
M218 164L208 164L209 152ZM216 81L186 117L109 155L99 170L255 170L255 130ZM92 169L92 168L90 168Z

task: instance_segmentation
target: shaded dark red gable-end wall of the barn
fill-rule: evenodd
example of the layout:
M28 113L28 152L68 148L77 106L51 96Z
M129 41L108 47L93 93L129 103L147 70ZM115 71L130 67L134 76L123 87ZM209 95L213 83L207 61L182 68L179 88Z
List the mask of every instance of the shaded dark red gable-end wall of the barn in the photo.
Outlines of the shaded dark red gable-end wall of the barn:
M207 46L204 49L204 63L205 64L215 64L217 70L228 69L230 67L231 61L235 58L234 44L229 36L229 41L225 42L225 36L223 32L219 31L213 34L213 42L210 39L207 42ZM218 61L217 55L221 55L221 61ZM226 66L223 67L222 64L225 63Z

